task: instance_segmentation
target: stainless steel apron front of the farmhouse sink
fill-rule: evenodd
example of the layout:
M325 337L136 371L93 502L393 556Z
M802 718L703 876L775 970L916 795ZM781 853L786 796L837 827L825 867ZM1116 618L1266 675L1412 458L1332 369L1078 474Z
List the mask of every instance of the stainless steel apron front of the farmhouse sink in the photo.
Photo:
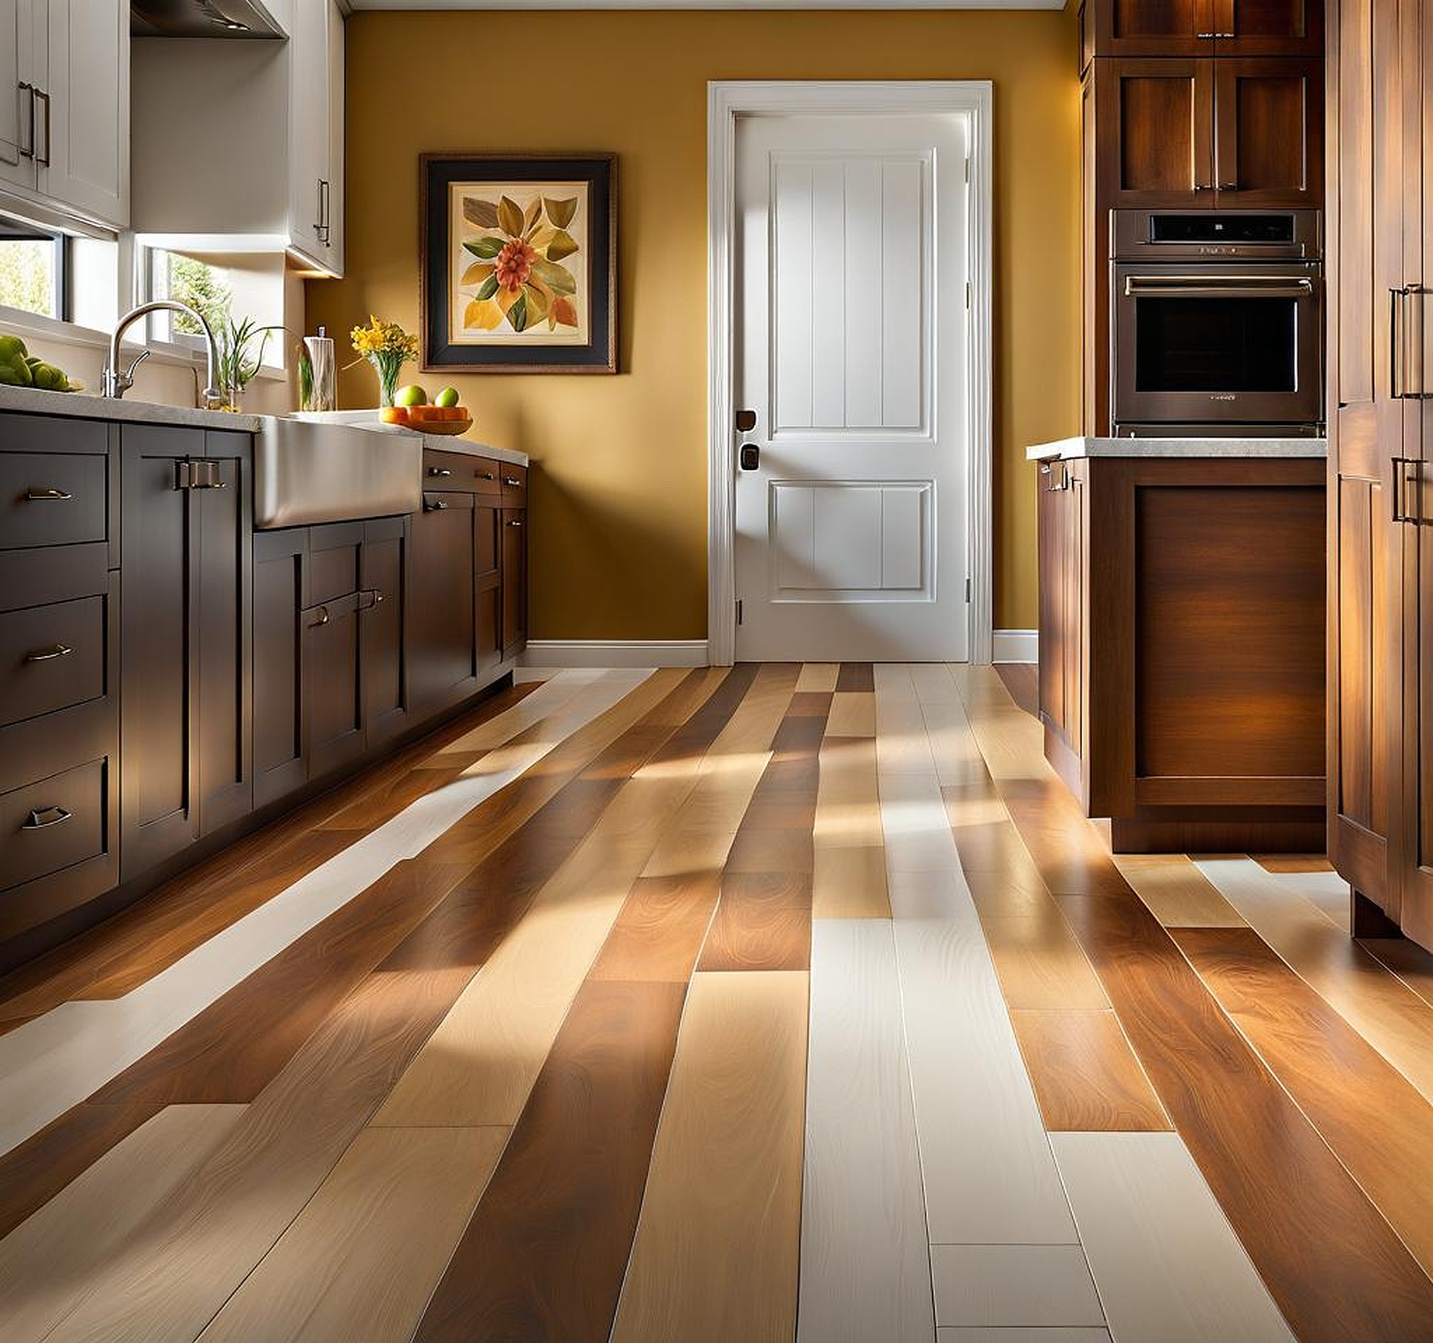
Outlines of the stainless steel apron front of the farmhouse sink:
M264 416L254 443L254 526L387 517L421 505L420 434Z

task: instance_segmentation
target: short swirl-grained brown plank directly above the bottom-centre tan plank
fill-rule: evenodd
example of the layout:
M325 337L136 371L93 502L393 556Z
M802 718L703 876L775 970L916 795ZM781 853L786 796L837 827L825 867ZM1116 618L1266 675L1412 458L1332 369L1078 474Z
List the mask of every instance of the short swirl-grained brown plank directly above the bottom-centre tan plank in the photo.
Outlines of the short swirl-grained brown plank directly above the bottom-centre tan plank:
M782 831L758 834L780 837ZM735 871L728 864L698 969L811 969L810 873Z

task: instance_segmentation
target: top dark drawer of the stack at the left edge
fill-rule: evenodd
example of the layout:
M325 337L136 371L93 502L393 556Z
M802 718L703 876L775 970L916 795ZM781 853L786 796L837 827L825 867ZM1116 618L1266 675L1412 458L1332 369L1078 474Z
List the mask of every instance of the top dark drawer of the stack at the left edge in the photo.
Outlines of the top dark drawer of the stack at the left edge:
M102 454L0 453L0 550L106 540Z

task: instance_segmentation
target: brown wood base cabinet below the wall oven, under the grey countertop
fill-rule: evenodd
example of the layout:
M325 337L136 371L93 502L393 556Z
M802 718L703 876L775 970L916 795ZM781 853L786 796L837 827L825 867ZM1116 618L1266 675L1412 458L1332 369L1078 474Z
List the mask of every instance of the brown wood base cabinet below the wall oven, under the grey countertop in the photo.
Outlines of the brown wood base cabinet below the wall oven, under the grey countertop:
M1129 451L1043 463L1046 758L1116 853L1317 850L1324 464Z

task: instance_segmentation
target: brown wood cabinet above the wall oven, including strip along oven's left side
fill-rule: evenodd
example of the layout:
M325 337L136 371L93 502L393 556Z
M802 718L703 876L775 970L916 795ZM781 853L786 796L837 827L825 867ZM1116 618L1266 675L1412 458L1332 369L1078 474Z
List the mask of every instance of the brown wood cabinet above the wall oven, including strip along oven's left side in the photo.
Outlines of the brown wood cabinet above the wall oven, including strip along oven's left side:
M1083 424L1108 434L1111 211L1318 208L1323 0L1085 0Z

